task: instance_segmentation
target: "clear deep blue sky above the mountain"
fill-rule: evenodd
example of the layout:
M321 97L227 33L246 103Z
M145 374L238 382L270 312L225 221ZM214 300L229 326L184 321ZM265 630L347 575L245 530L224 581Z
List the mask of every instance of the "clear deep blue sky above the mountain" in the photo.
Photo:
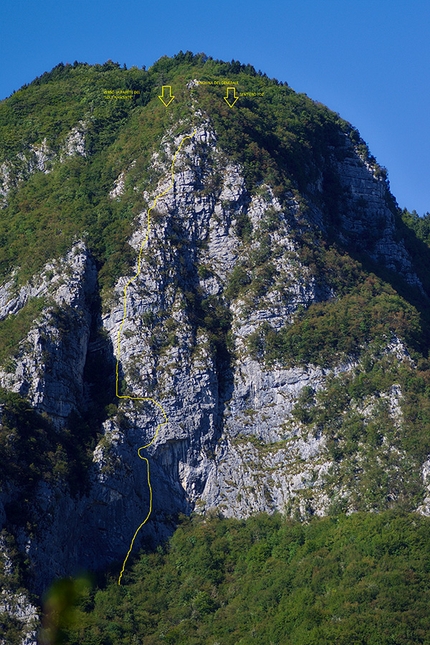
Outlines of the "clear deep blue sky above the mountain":
M0 0L0 99L59 62L251 63L356 126L401 207L430 211L430 0Z

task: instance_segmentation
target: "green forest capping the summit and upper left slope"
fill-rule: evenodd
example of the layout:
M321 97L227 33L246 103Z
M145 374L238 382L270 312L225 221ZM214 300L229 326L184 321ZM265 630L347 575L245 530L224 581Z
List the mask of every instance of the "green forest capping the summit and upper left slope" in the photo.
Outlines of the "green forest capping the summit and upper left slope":
M264 96L242 97L240 109L230 109L224 86L187 88L192 79L219 78ZM164 83L175 91L168 110L158 99ZM111 91L135 94L107 99ZM144 208L142 191L158 178L151 154L166 132L190 128L197 108L213 121L222 149L243 164L250 189L262 180L280 194L302 189L325 169L329 150L341 150L342 132L358 139L337 114L250 65L191 54L162 58L149 70L57 65L0 103L0 166L10 188L0 216L0 275L20 267L25 280L85 237L102 285L112 285L134 257L127 239ZM76 131L85 155L68 153ZM49 172L37 169L35 151L48 151ZM112 200L109 191L124 170L125 193Z

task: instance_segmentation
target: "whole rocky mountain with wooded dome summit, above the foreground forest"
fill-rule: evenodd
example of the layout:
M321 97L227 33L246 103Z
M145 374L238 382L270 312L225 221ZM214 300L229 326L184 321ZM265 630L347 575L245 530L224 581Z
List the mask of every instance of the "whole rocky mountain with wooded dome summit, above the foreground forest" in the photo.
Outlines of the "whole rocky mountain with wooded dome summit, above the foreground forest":
M0 157L5 643L181 514L425 525L427 229L353 126L235 61L75 62Z

